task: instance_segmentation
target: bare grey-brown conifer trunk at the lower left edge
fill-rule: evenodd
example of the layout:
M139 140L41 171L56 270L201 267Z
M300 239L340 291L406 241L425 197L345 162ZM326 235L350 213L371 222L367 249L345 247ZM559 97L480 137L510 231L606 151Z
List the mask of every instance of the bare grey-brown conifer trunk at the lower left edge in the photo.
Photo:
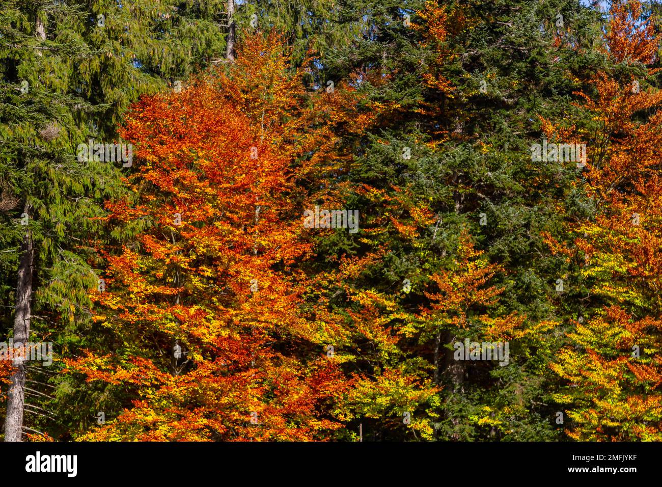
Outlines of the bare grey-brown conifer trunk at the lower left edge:
M24 213L30 210L25 204ZM30 301L32 301L32 270L34 268L34 245L32 235L26 230L23 241L23 256L19 264L19 279L16 286L16 311L14 315L14 345L25 345L30 338ZM25 403L26 366L23 358L14 360L17 371L11 377L7 420L5 421L5 441L21 441L23 437L23 410Z

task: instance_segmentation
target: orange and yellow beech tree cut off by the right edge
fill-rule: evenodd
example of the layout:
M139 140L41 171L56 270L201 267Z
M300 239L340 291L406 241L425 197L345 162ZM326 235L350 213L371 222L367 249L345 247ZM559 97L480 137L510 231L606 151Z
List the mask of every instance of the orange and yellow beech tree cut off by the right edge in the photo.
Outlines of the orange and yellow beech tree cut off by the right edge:
M580 93L596 127L580 183L594 218L571 222L581 280L589 282L578 317L553 369L569 382L568 434L581 441L662 439L662 91L653 88L658 38L641 4L614 2L606 34L620 67ZM620 74L619 74L620 73ZM625 73L625 74L623 74Z

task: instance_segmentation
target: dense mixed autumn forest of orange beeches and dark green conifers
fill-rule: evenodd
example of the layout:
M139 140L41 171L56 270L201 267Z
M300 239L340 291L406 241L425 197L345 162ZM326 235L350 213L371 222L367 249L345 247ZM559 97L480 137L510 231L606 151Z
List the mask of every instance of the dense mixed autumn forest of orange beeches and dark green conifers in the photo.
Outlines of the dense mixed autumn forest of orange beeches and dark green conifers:
M0 5L5 441L662 440L657 1Z

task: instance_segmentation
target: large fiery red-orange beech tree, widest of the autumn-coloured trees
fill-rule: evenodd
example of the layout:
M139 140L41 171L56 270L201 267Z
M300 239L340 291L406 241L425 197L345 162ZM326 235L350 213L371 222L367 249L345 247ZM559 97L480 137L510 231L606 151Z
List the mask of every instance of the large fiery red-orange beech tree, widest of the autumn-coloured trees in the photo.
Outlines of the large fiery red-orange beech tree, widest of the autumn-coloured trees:
M367 123L352 90L308 93L275 35L246 38L227 72L146 97L126 117L136 201L107 203L133 236L104 248L95 321L107 349L71 374L117 386L95 440L324 439L346 419L333 343L346 324L311 291L301 178L344 158ZM338 162L334 162L334 159Z

